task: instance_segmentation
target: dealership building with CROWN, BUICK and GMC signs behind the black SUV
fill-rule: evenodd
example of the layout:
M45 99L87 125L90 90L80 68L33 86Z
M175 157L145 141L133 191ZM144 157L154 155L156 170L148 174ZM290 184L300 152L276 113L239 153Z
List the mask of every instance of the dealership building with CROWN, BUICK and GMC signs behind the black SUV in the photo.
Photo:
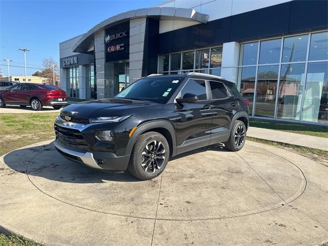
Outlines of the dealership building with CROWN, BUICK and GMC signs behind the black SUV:
M59 44L68 97L114 96L149 74L218 75L253 117L328 124L328 1L173 0L108 16Z

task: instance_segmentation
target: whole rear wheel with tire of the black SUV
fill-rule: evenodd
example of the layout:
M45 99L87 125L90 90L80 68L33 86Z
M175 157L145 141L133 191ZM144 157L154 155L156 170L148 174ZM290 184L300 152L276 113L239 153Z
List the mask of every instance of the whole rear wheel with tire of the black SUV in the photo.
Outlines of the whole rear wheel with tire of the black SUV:
M244 122L236 120L230 133L230 137L227 142L224 142L224 146L231 151L239 151L242 149L246 141L246 127Z

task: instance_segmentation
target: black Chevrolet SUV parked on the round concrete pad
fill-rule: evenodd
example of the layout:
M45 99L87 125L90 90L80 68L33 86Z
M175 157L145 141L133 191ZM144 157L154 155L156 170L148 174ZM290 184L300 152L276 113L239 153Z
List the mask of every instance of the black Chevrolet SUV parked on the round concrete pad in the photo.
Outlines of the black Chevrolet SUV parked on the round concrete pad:
M55 147L70 160L147 180L183 152L219 142L240 150L248 125L248 100L234 83L201 73L150 75L114 98L64 108Z

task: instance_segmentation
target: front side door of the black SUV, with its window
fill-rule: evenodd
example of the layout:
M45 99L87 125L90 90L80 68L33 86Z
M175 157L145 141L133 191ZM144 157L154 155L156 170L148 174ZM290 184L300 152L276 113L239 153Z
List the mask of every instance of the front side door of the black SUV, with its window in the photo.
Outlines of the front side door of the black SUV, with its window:
M206 81L189 79L182 88L180 96L192 93L198 96L197 103L176 104L177 153L208 146L211 139L213 110L206 90Z

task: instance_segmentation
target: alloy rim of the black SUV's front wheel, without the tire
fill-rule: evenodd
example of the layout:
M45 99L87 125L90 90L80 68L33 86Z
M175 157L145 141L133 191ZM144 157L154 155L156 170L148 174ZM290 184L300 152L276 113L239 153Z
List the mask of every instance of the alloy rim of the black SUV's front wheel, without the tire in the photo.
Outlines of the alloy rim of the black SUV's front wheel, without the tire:
M147 173L158 171L165 161L165 147L157 140L150 141L141 154L141 167Z

